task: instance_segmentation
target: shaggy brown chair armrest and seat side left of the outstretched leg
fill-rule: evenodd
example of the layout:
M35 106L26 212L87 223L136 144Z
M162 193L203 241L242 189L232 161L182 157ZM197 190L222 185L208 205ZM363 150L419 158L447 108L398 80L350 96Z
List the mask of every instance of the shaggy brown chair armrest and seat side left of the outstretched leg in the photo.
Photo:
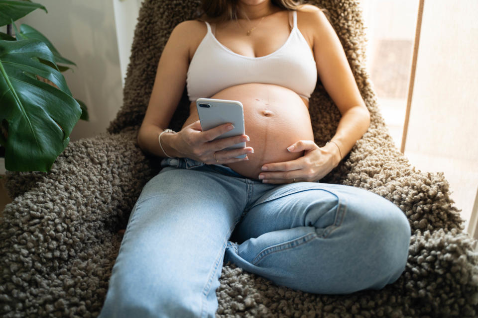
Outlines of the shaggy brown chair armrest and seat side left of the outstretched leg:
M0 219L1 317L99 314L117 231L157 173L154 160L129 131L70 143L48 173L9 173L21 190Z

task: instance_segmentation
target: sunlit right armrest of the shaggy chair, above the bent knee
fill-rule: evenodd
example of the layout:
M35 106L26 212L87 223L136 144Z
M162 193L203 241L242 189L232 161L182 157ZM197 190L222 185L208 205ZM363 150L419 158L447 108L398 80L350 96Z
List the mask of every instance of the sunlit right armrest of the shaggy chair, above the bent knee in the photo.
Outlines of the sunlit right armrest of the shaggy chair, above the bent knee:
M412 232L464 229L443 172L417 170L384 127L369 129L326 180L367 189L392 201L408 217Z

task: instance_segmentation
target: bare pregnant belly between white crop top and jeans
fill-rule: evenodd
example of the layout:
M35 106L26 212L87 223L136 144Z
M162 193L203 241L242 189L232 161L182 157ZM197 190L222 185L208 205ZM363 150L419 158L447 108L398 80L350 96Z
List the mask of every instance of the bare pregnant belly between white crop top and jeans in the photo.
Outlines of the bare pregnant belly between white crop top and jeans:
M254 149L249 160L225 164L239 174L257 179L265 163L294 160L301 153L289 153L287 147L298 140L314 140L306 103L293 90L283 86L247 83L231 86L211 96L217 99L239 100L244 107L245 134ZM184 126L198 120L196 103ZM183 126L183 127L184 127Z

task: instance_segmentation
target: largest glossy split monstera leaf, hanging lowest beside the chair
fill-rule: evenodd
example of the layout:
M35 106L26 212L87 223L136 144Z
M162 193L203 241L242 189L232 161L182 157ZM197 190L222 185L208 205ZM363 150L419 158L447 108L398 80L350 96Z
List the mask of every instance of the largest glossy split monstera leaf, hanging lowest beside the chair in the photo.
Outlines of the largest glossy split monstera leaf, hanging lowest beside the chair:
M63 75L39 60L54 63L41 41L0 41L0 122L8 123L4 147L10 171L48 171L82 112ZM31 75L49 79L59 89Z

